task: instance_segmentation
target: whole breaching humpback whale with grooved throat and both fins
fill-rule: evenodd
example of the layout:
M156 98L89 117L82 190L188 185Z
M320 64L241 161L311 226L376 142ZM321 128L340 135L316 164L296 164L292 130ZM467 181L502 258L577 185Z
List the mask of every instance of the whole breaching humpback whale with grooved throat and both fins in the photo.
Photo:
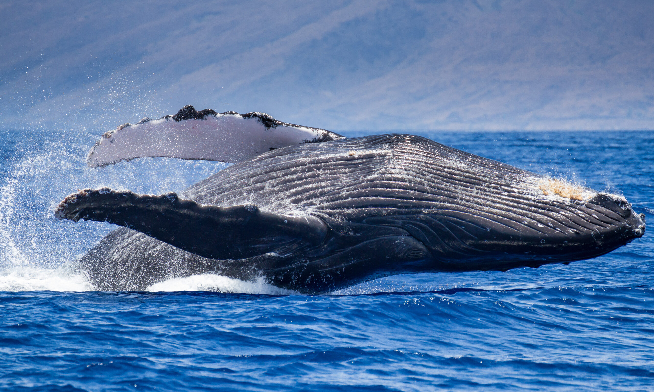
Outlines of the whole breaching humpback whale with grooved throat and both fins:
M99 290L213 272L324 293L393 274L569 263L645 231L619 195L415 135L345 138L258 112L185 106L120 125L88 164L158 156L234 164L179 195L100 188L61 201L60 219L124 226L80 260Z

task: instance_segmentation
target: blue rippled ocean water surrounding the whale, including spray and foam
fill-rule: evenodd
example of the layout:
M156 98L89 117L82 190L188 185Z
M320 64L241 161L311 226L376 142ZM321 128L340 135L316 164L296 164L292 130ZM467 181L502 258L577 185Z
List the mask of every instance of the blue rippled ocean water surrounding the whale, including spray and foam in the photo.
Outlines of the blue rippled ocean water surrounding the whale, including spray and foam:
M73 266L112 225L55 220L56 203L102 185L179 191L225 165L137 159L88 169L97 133L0 133L5 390L654 390L649 227L567 266L392 276L329 295L208 275L158 292L98 292ZM419 134L622 193L654 221L654 133Z

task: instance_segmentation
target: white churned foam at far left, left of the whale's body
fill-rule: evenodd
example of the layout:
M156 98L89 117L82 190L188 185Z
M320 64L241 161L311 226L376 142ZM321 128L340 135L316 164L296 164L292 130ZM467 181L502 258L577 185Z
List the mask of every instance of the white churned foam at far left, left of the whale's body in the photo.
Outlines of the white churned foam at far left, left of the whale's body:
M0 291L92 291L86 276L64 267L44 269L20 266L0 270Z

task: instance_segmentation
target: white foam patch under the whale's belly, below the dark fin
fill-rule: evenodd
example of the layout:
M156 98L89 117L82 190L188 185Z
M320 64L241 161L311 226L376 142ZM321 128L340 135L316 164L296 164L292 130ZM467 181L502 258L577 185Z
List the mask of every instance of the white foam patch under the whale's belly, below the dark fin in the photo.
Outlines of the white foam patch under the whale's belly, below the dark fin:
M153 284L145 291L217 291L218 293L247 293L290 295L295 291L282 289L264 282L259 278L255 282L227 278L216 274L199 274L185 278L173 278Z

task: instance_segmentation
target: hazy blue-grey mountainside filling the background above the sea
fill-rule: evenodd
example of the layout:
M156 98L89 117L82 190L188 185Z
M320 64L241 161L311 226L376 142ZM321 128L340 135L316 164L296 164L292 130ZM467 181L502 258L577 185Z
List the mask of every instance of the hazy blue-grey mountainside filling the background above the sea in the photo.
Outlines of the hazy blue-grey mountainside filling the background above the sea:
M654 129L654 1L3 1L0 129Z

